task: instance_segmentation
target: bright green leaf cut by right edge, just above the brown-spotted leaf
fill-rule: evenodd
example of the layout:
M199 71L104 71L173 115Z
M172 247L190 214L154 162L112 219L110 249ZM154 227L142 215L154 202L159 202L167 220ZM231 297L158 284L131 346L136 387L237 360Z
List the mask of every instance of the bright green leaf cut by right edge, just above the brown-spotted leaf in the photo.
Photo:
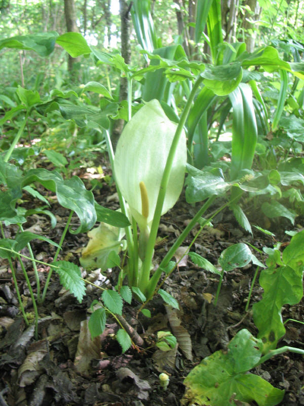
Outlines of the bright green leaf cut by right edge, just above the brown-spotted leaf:
M304 269L304 230L292 237L283 251L283 261L294 270Z

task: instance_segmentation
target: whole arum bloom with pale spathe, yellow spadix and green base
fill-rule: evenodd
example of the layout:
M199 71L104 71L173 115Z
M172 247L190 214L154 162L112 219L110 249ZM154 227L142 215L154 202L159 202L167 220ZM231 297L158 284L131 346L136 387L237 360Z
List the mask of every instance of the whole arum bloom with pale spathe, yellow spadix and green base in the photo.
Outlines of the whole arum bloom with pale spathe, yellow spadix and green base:
M168 119L159 101L151 100L126 124L115 154L116 183L132 216L129 284L148 295L151 293L147 292L147 287L156 236L154 232L151 238L151 228L158 227L158 221L153 224L157 213L163 215L174 206L184 182L186 137L182 127L181 131L177 131L177 127ZM164 193L163 202L159 201L162 200L159 199L160 189ZM138 240L136 223L140 231Z

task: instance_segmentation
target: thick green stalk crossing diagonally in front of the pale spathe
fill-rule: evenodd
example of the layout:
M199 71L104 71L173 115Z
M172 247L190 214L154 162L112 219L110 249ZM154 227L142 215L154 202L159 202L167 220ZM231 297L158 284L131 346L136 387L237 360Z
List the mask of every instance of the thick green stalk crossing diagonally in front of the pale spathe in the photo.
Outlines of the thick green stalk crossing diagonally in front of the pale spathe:
M178 126L175 131L175 135L174 135L174 138L173 138L173 141L171 144L171 148L170 148L170 151L168 154L165 170L164 170L163 177L161 180L160 191L158 194L157 204L156 204L156 208L155 208L155 212L154 212L154 218L153 218L153 222L151 225L151 231L150 231L149 239L147 242L145 259L142 264L142 272L141 272L141 278L139 281L139 288L143 293L145 293L146 288L149 283L150 266L151 266L151 262L152 262L152 258L153 258L155 241L157 238L158 227L159 227L160 219L161 219L161 215L162 215L162 209L163 209L163 204L164 204L164 200L165 200L165 196L166 196L166 190L167 190L167 185L169 182L173 159L174 159L175 152L176 152L176 149L178 146L178 142L179 142L179 139L180 139L180 136L182 133L183 126L186 122L186 119L188 117L189 111L192 106L192 102L194 100L194 97L195 97L197 90L198 90L200 84L202 83L202 81L203 81L203 78L201 76L199 76L193 86L193 89L189 95L187 103L181 114Z

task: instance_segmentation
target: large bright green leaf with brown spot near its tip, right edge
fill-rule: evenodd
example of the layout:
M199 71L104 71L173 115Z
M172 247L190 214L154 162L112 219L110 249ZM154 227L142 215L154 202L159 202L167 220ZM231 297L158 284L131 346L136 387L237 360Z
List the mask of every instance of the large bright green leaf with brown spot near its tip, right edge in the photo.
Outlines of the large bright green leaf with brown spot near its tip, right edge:
M284 304L296 304L303 296L302 269L273 265L263 269L259 284L264 289L262 299L253 304L253 320L263 341L263 353L275 349L285 334L282 322Z

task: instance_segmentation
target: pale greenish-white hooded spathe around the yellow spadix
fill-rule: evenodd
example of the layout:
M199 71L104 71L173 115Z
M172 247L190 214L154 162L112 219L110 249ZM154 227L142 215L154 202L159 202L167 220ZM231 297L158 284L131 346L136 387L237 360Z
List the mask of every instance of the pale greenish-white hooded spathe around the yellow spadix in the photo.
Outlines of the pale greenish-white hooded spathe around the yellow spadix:
M118 141L114 171L118 187L140 229L150 227L160 184L177 124L168 119L158 100L146 103L126 124ZM187 159L186 136L182 131L174 157L163 205L165 214L182 190ZM148 196L148 215L143 216L140 193L143 182Z

